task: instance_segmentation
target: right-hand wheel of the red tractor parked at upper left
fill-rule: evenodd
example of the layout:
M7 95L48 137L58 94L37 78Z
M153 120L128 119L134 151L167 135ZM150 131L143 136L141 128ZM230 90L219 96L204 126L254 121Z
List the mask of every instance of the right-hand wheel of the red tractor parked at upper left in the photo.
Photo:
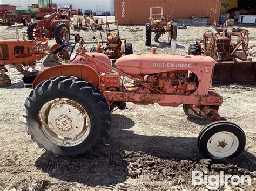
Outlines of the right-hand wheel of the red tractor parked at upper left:
M54 37L57 44L69 44L70 31L69 26L65 23L58 23L54 30Z

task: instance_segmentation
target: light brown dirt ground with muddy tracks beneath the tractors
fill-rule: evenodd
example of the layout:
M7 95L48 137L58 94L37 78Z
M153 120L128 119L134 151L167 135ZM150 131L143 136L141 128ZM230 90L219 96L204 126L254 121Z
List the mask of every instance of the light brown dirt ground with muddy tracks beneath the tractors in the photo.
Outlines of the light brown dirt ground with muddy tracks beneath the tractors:
M133 44L134 53L168 54L167 36L160 43L144 45L143 31L120 34ZM250 43L256 44L256 28L250 30ZM209 27L188 27L178 30L177 54L187 54L187 48L203 36ZM18 31L26 28L18 26ZM79 31L91 40L90 32ZM0 26L0 39L15 39L15 27ZM73 40L73 37L71 37ZM50 44L54 40L50 40ZM87 46L90 48L92 45ZM245 151L232 160L217 162L201 155L197 148L200 130L209 122L191 120L182 107L134 105L117 110L112 116L109 137L97 150L79 158L55 157L40 149L25 132L22 112L31 89L23 88L22 75L14 68L7 73L12 85L0 88L0 190L3 189L193 189L193 170L208 174L250 175L256 188L256 86L215 86L224 97L219 113L241 126L246 134ZM197 186L211 189L211 185ZM233 189L231 184L220 189Z

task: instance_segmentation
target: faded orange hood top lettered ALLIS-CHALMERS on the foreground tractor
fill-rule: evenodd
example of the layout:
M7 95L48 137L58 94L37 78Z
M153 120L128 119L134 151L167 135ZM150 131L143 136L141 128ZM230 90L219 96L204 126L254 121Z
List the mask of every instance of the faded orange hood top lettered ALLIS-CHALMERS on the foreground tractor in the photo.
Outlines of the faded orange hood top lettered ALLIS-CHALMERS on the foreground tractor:
M131 54L119 58L115 65L122 72L138 78L147 74L183 70L189 70L197 75L211 75L215 60L204 55Z

